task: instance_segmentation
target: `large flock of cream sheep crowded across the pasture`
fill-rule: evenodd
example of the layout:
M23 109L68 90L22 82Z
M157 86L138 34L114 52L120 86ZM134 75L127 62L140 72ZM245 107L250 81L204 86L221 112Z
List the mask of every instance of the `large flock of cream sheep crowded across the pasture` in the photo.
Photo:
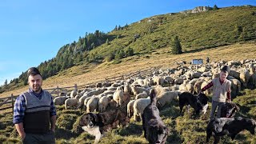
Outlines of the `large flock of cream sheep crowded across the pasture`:
M256 59L241 61L210 62L202 65L178 65L172 69L154 71L152 76L130 78L116 82L97 83L94 88L72 90L70 94L54 98L54 104L65 108L77 108L89 112L104 112L110 106L127 106L129 118L142 120L143 110L150 104L149 92L154 89L157 95L158 107L178 98L184 91L197 94L213 78L219 76L222 66L230 66L227 79L231 84L231 97L235 98L240 90L256 87ZM206 90L206 95L212 91Z

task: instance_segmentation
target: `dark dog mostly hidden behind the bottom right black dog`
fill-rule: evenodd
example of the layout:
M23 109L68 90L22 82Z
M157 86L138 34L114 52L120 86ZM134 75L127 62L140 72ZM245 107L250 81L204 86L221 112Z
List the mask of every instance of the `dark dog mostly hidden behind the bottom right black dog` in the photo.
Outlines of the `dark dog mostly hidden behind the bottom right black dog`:
M240 110L234 102L227 102L222 106L221 118L233 118L234 114Z

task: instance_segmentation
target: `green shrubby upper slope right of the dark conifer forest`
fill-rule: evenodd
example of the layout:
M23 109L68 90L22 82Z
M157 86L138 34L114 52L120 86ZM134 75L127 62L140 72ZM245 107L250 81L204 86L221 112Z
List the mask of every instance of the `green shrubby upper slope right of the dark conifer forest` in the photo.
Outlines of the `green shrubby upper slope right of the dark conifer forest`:
M114 50L131 47L135 53L170 47L170 38L178 35L183 51L202 50L255 38L256 7L227 7L198 14L162 14L130 24L124 30L112 31L118 35L110 45L91 51L105 57ZM134 35L139 37L134 40Z

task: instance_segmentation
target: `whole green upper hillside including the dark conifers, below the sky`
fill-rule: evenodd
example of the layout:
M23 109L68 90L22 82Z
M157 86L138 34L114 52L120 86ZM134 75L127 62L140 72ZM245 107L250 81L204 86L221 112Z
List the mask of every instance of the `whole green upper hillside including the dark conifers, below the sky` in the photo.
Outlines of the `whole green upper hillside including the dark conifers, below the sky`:
M255 6L236 6L197 14L155 15L107 34L96 30L94 34L79 37L77 42L64 44L55 58L42 62L38 68L42 71L43 78L50 78L59 73L69 74L69 68L72 66L82 66L82 70L86 69L85 71L88 72L87 67L109 61L120 50L126 51L130 48L134 50L136 57L141 57L141 54L151 54L155 50L168 50L170 39L174 36L178 36L182 51L186 53L254 40L255 13ZM124 55L124 57L128 56ZM3 86L0 93L20 89L24 85L26 85L26 72L8 86Z

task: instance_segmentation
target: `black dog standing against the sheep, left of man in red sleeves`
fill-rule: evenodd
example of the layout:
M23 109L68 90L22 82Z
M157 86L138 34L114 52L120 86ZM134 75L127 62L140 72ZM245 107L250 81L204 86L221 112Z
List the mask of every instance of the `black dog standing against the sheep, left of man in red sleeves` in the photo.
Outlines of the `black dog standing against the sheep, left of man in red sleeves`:
M194 108L195 113L199 114L200 110L203 111L203 114L206 114L208 107L209 98L206 97L206 94L200 93L198 96L191 94L189 92L183 92L178 96L180 113L182 114L183 106L190 105Z

